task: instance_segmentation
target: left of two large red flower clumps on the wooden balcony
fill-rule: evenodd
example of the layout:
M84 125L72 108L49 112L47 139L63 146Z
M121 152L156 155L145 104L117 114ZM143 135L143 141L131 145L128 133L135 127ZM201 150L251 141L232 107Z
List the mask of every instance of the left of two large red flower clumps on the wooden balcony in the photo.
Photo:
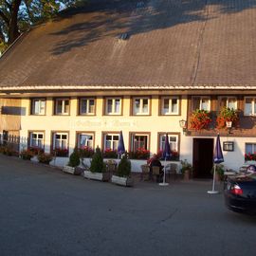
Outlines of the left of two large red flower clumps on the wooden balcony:
M199 131L208 129L211 122L210 112L204 109L196 109L192 112L190 124L191 129Z

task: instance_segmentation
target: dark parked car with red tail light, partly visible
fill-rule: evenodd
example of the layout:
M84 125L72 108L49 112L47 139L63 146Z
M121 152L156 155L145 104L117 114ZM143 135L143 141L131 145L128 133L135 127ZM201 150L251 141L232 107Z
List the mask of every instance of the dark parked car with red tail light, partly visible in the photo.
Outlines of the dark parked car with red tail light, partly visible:
M229 176L225 181L224 195L229 210L256 214L256 174Z

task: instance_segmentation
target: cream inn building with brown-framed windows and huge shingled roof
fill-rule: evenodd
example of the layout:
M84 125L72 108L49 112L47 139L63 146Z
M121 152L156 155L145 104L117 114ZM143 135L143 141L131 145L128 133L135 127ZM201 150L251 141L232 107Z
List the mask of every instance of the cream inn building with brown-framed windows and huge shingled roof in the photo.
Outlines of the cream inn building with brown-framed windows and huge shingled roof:
M255 1L95 1L24 32L0 58L0 132L46 152L75 146L157 153L210 176L217 133L227 169L256 152ZM216 128L222 106L239 124ZM208 110L208 129L191 128ZM181 120L183 122L183 125Z

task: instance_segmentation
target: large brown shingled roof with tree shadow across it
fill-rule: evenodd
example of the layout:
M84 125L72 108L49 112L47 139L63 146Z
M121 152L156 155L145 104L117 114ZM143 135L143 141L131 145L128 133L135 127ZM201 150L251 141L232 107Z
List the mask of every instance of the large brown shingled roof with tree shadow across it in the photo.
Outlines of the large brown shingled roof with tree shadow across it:
M255 0L98 0L25 33L0 88L253 87L255 20Z

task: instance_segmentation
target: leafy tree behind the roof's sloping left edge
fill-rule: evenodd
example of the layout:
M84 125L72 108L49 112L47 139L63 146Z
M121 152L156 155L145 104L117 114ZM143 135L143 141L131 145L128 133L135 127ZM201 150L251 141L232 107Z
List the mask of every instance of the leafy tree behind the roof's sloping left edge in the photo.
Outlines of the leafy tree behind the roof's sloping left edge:
M0 45L11 44L23 30L49 19L77 0L0 0Z

